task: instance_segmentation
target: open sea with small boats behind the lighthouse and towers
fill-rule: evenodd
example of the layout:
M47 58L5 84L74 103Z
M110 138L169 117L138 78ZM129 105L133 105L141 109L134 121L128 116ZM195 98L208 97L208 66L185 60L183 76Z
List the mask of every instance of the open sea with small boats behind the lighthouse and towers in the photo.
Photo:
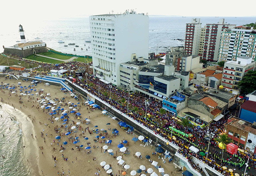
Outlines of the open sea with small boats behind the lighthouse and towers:
M202 26L206 23L217 23L220 18L225 22L236 25L256 22L256 17L197 17L201 19ZM186 23L191 22L192 17L149 17L149 52L166 52L171 46L184 45L184 41L174 39L185 39ZM19 24L23 25L27 41L40 38L46 42L47 46L64 53L91 55L89 18L63 19L58 21L33 21L23 19L20 22L9 22L0 28L0 46L11 46L20 41L18 31ZM63 40L65 43L58 43ZM75 43L79 47L65 44ZM86 46L84 46L86 44ZM76 48L76 51L73 51ZM80 48L83 48L81 50ZM86 51L85 49L88 49ZM0 48L3 52L3 48Z

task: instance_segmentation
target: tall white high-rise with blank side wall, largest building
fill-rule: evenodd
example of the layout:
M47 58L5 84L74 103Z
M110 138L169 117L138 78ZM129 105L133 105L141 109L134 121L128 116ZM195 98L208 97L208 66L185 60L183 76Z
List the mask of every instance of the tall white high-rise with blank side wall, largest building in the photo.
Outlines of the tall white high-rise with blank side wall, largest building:
M149 17L128 10L123 14L89 17L93 73L120 85L120 63L148 58ZM136 54L135 54L136 53Z

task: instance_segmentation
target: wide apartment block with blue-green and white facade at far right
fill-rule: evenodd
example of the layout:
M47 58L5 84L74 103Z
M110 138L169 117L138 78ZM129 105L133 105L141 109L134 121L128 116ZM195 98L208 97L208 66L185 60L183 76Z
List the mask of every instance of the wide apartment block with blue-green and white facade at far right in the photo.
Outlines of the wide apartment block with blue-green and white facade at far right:
M237 57L256 55L256 31L253 27L236 26L221 34L218 61L236 61Z

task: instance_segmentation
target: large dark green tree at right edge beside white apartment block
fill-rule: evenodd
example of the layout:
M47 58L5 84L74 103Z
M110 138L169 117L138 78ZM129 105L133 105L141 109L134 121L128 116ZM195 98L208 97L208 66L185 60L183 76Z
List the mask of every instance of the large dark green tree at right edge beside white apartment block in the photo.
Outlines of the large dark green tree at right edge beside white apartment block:
M238 83L241 93L251 93L256 89L256 71L247 71L243 79Z

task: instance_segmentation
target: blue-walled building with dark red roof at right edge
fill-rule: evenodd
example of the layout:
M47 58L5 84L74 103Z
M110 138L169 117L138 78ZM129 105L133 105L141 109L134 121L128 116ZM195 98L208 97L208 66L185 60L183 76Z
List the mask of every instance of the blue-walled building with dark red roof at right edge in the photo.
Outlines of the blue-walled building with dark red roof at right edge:
M241 105L239 118L251 123L255 122L256 121L256 102L248 100L245 103L243 103Z

